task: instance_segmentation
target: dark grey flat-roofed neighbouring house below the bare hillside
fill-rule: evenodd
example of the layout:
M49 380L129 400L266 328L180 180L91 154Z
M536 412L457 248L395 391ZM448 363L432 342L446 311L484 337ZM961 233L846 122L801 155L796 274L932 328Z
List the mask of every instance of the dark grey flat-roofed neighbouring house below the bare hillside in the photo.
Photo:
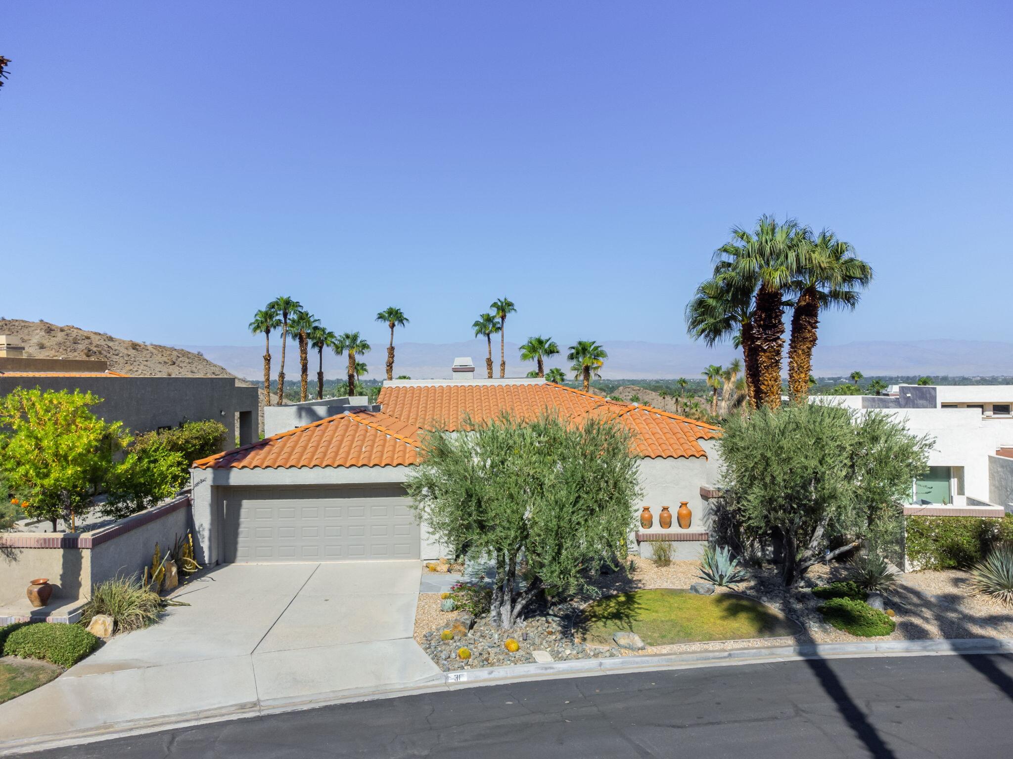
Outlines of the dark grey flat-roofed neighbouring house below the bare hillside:
M256 439L257 389L230 376L128 376L109 371L104 360L27 357L0 335L0 396L16 388L90 392L102 399L92 408L96 416L132 432L214 419L228 430L227 441Z

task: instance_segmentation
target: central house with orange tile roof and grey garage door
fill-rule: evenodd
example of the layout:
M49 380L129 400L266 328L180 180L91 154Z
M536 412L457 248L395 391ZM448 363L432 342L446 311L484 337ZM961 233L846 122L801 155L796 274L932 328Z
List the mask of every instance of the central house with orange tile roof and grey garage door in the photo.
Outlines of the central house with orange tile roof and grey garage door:
M470 362L469 362L470 363ZM707 539L706 499L716 482L720 430L647 407L618 403L544 380L387 381L379 410L335 413L259 442L194 462L194 535L206 564L435 559L440 546L416 523L404 482L418 460L422 430L463 428L510 412L546 410L580 420L615 419L634 434L643 500L653 526L639 538L676 540L695 557ZM331 411L336 411L332 408ZM689 529L676 520L693 510ZM673 524L658 525L669 506Z

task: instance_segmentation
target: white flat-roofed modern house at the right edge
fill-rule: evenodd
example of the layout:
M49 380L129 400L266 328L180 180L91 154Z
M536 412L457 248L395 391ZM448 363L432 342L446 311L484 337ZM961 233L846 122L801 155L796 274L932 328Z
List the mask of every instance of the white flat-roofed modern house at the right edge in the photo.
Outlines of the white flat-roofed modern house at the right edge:
M995 515L1013 510L1013 386L891 386L880 396L814 396L879 409L935 439L929 471L912 483L909 514Z

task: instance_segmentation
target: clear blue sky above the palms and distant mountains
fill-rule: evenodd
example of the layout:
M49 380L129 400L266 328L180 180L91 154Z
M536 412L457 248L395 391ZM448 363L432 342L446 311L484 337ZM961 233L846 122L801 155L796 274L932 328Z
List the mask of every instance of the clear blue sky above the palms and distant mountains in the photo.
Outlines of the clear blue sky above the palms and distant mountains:
M1010 339L1013 4L34 2L0 55L0 315L256 343L685 340L732 225L876 270L821 340Z

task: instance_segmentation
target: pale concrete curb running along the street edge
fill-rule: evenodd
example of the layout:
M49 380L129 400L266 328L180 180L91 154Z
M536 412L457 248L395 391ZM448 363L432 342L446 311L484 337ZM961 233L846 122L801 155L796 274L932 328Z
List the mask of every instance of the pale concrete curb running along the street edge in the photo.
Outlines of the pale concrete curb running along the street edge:
M294 698L245 701L219 708L176 714L172 716L119 723L107 729L49 735L41 739L22 740L0 747L0 756L28 751L75 746L107 741L114 738L155 733L173 728L189 728L287 711L301 711L338 703L370 701L419 695L458 688L500 685L504 683L547 680L559 677L594 677L600 675L633 674L670 669L726 667L742 664L764 664L807 659L846 659L893 656L960 656L971 654L1013 653L1013 639L971 638L953 641L879 641L872 643L830 643L805 646L703 651L692 654L660 654L624 656L612 659L581 659L547 664L519 664L508 667L441 672L439 675L405 685L381 690L337 690Z

